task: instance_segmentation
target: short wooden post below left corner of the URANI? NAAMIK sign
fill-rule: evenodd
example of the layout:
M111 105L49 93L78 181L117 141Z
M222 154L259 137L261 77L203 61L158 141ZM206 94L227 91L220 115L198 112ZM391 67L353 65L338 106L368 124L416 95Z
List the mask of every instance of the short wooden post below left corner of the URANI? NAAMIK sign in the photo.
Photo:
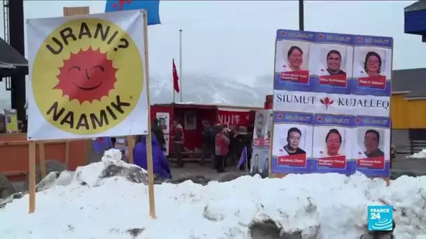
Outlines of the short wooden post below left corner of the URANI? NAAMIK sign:
M28 191L29 213L36 211L36 142L29 141L28 145Z

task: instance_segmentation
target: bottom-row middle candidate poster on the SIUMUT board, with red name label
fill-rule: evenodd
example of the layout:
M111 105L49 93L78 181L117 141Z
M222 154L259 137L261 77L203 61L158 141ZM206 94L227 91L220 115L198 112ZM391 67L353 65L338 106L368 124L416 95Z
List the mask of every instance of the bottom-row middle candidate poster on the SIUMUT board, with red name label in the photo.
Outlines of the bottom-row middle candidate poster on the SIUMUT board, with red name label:
M352 161L352 116L314 115L312 172L346 173L354 170Z

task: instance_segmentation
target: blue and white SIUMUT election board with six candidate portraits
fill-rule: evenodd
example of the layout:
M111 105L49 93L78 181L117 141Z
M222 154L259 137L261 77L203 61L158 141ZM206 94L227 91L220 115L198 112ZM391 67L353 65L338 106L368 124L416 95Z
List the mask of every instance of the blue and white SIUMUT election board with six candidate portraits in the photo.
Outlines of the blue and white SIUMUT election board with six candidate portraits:
M388 178L393 39L278 29L275 47L270 171L361 171L369 177ZM284 131L289 130L282 125L301 124L277 118L289 113L312 115L311 152L305 150L310 156L303 170L278 166L284 162L284 158L278 160L280 140L287 138ZM327 138L334 140L327 143Z

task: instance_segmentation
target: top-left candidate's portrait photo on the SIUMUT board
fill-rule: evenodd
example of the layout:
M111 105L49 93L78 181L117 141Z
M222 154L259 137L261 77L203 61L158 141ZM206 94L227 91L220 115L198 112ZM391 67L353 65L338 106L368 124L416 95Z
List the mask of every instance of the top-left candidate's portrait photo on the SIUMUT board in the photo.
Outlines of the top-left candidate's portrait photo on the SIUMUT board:
M277 45L277 72L308 71L310 43L281 41Z

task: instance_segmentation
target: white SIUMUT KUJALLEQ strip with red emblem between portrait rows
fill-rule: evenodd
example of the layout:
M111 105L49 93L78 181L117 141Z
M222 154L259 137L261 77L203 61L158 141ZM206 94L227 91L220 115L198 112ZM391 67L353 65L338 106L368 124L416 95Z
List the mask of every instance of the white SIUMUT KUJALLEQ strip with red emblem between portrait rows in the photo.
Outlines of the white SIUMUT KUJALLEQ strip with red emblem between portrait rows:
M274 90L274 109L334 115L387 117L390 97Z

